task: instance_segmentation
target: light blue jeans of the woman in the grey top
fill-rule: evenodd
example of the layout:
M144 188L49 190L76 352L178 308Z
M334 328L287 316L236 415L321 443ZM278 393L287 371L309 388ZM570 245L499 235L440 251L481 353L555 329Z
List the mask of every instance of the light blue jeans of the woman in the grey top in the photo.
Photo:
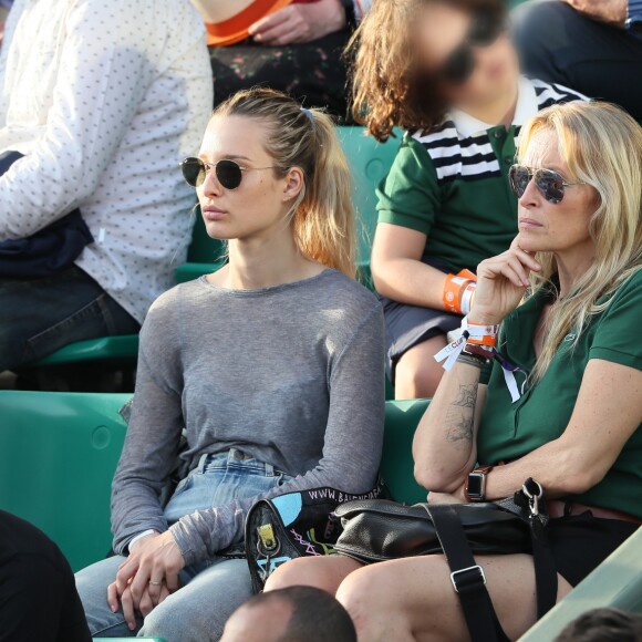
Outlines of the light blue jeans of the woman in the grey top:
M289 477L269 464L247 458L237 449L204 455L198 466L177 486L165 508L172 524L195 510L229 504L234 499L266 494ZM169 596L130 631L122 611L107 605L107 586L114 581L123 557L100 561L76 573L76 587L92 635L118 638L157 635L170 642L216 641L231 613L251 594L245 559L217 557L180 573L182 588Z

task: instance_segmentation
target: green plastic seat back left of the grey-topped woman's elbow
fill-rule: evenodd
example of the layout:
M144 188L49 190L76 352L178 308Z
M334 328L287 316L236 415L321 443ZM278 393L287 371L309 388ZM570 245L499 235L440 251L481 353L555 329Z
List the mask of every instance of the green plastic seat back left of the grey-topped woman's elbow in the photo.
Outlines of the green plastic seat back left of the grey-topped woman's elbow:
M43 530L79 570L111 546L111 485L131 394L0 391L0 508Z

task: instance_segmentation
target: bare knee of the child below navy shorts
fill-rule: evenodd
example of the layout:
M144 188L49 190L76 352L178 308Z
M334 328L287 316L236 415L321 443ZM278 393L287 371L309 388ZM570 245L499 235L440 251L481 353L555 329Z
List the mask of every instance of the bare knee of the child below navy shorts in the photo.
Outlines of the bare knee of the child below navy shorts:
M437 334L404 353L394 371L395 398L424 398L435 394L444 369L434 356L445 345L446 335Z

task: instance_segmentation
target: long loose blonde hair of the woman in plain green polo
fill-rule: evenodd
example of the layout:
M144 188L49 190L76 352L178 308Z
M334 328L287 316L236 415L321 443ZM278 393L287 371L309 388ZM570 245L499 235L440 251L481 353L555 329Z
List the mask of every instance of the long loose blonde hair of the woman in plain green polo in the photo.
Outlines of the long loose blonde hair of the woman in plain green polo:
M561 341L576 333L574 348L593 314L603 312L618 288L642 267L642 128L623 110L609 103L572 102L541 111L522 127L522 158L541 131L555 132L570 180L592 186L599 207L590 220L596 259L573 288L553 304L532 382L550 365ZM542 266L531 277L531 292L550 288L557 273L552 252L538 252Z

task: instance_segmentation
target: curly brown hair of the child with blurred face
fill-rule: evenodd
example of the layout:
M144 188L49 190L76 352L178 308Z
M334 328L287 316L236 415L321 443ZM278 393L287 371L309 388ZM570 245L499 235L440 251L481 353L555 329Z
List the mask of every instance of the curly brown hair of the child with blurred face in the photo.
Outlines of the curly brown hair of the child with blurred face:
M380 142L395 126L431 130L444 118L438 83L415 70L410 35L417 11L437 2L470 12L504 10L500 0L374 0L346 53L353 117Z

